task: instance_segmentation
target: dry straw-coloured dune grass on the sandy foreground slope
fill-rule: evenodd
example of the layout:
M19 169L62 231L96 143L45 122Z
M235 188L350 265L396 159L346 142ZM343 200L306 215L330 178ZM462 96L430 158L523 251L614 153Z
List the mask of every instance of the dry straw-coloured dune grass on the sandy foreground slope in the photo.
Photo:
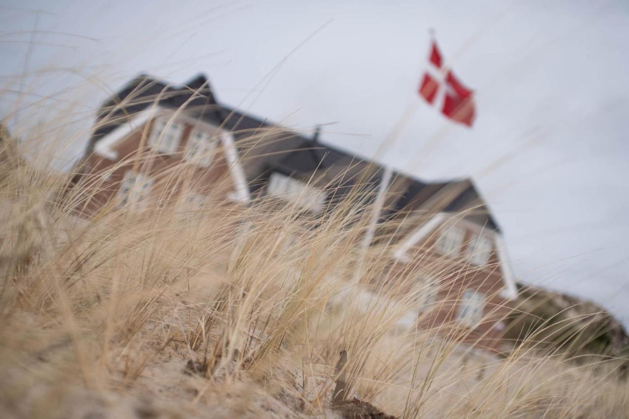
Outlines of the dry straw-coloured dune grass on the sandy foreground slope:
M102 177L68 191L6 133L1 148L4 418L338 417L338 376L346 398L401 417L629 411L611 362L542 356L535 335L498 357L457 344L455 325L404 322L428 291L399 297L386 237L361 254L367 185L313 219L264 199L192 205L168 187L190 182L182 165L141 211L106 205L87 220L75 209Z

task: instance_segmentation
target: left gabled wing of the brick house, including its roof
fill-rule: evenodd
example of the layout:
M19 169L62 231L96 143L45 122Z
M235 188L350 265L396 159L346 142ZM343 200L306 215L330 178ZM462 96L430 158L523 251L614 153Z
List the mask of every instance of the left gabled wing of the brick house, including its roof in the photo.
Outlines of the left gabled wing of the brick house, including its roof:
M235 139L221 128L223 117L215 103L203 77L174 86L140 76L110 97L99 109L73 179L77 183L86 173L101 175L89 177L97 192L81 212L92 216L103 205L141 208L150 200L174 199L172 191L191 200L210 192L221 199L248 200ZM182 185L172 184L174 177L164 176L181 168L182 161L191 163L193 173L182 174L181 182L184 177L196 180L186 182L185 193L180 193Z

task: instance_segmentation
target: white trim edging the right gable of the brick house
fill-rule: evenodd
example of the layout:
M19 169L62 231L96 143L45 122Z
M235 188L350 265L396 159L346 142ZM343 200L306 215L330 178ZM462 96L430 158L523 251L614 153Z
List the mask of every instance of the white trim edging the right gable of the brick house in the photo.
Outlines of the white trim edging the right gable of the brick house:
M450 218L451 215L448 215L445 212L435 214L430 220L422 224L412 234L409 234L409 236L404 239L402 244L394 250L394 258L402 262L409 262L410 258L407 254L409 249ZM495 233L492 236L494 237L498 260L500 262L500 269L503 274L504 288L500 291L500 297L513 300L518 296L518 288L516 287L515 273L513 272L513 266L511 265L509 253L507 252L506 243L504 242L504 238L501 234Z

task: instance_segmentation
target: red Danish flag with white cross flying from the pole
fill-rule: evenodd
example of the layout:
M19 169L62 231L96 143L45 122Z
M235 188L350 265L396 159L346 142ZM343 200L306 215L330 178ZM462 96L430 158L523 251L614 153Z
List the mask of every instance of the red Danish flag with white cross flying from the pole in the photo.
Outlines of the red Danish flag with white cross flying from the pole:
M443 67L442 61L437 43L433 40L419 93L429 104L441 107L441 113L452 121L472 126L474 92L462 85L452 70Z

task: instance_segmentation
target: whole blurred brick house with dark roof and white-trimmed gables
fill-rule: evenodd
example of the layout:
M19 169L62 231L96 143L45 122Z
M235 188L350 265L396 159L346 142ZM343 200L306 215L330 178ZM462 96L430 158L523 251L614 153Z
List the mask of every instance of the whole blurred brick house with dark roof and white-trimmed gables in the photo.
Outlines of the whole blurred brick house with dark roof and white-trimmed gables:
M311 215L350 193L363 193L367 207L383 168L318 137L220 104L202 75L185 85L140 76L99 109L74 183L86 173L100 183L81 212L141 208L177 199L182 188L186 199L212 194L247 204L264 195ZM182 161L192 172L181 184L172 176L165 182L164 173L181 171ZM465 340L496 349L504 302L517 291L501 231L481 195L467 179L425 183L403 173L393 179L372 246L386 244L389 277L400 288L425 288L410 321L430 311L420 317L426 327L452 325Z

